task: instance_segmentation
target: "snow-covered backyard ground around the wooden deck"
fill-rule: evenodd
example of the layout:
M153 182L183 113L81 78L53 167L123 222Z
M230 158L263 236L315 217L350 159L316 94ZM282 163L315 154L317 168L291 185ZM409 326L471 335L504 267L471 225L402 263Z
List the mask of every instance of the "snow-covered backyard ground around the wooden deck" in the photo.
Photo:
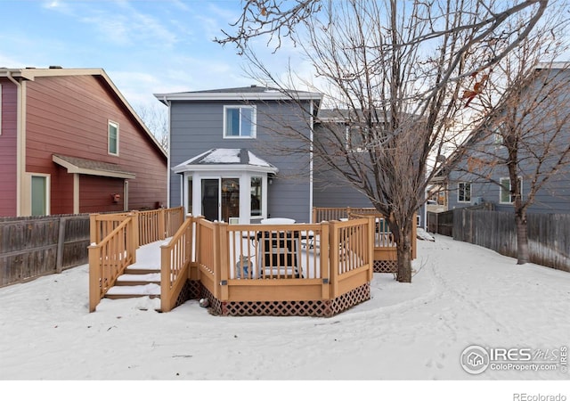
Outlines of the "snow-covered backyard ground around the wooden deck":
M159 300L149 298L103 299L90 314L86 265L5 287L0 289L0 379L20 391L21 380L40 389L49 381L85 381L81 391L87 399L85 389L98 388L94 383L101 380L136 380L140 389L148 387L141 381L168 381L168 389L176 388L170 381L183 381L190 393L221 390L208 381L225 381L230 389L248 383L248 399L263 398L255 398L249 381L264 381L258 389L277 399L307 386L324 390L322 395L334 389L328 396L334 399L346 394L355 399L356 389L369 389L373 399L384 399L380 396L390 389L400 395L419 389L420 398L431 399L422 389L435 381L446 381L444 389L456 387L461 399L482 399L477 396L482 385L493 388L496 382L489 381L498 380L497 391L509 397L486 399L517 399L514 392L531 386L534 393L550 391L570 400L564 362L570 346L570 274L517 266L513 258L444 236L418 244L411 284L374 274L372 299L332 318L222 317L209 315L197 300L159 314L154 311ZM139 263L149 250L142 248ZM485 372L462 367L469 346L491 353ZM501 357L504 352L509 356ZM522 364L529 355L539 370L520 370L530 366ZM501 359L511 365L493 368L493 360ZM547 365L555 370L544 370ZM300 382L297 387L283 381ZM91 395L99 399L107 391ZM438 391L437 399L447 399ZM146 389L138 398L151 394Z

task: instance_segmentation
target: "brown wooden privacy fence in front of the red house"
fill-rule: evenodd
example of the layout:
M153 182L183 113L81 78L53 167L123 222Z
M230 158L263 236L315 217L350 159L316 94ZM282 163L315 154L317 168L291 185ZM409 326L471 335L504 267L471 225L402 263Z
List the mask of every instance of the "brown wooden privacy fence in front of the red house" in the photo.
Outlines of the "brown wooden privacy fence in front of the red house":
M87 263L89 215L0 219L0 287Z

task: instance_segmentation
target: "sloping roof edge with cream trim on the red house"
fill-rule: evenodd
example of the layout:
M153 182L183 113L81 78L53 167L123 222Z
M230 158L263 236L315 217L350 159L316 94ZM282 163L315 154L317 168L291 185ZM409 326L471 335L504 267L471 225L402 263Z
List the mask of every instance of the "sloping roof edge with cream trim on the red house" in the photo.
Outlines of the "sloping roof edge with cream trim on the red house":
M127 113L134 119L136 125L138 125L142 131L148 136L153 145L159 150L162 157L167 159L167 152L162 146L160 146L159 141L152 135L151 131L144 124L139 115L134 111L131 105L126 101L125 96L121 94L113 83L107 73L102 69L62 69L61 67L52 66L48 69L37 69L37 68L25 68L25 69L6 69L0 68L0 77L5 77L9 79L20 79L33 81L37 77L72 77L72 76L93 76L99 78L99 81L103 86L110 89L111 93L115 95L116 99L122 106L125 107Z

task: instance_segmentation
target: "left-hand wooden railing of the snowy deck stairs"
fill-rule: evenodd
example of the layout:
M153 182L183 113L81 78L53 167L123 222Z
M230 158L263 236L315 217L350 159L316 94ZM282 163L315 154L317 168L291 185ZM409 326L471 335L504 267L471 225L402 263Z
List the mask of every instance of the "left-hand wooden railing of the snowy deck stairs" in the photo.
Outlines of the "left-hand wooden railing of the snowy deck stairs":
M126 266L136 261L136 216L121 222L102 241L89 246L89 311L93 312L107 291L115 285ZM105 221L105 228L112 220ZM103 226L103 225L101 225Z

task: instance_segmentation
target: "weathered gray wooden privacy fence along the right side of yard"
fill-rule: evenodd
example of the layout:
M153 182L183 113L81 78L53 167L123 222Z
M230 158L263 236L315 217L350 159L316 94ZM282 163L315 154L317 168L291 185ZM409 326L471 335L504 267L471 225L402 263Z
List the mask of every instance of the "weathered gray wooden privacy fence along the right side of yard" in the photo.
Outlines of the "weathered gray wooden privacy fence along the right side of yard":
M517 258L517 227L513 213L468 209L445 213L444 225L428 227L431 232L452 235L454 240ZM449 216L452 217L452 233L446 233ZM531 262L570 272L570 215L529 213L527 224Z

